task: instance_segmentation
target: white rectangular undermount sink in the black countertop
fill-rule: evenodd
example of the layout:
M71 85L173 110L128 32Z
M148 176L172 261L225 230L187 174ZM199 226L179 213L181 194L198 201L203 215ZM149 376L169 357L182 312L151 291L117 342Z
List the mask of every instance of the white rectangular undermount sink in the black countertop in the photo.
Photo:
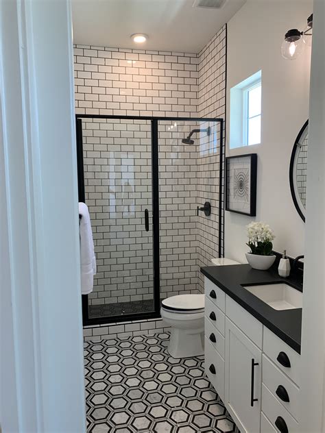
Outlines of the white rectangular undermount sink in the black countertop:
M274 310L293 310L302 308L302 293L285 283L243 286Z

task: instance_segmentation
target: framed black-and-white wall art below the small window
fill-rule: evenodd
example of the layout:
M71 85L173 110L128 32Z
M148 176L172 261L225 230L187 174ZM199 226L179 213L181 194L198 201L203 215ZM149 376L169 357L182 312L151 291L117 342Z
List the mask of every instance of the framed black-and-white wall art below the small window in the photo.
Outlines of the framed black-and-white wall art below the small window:
M257 154L226 158L226 210L256 216Z

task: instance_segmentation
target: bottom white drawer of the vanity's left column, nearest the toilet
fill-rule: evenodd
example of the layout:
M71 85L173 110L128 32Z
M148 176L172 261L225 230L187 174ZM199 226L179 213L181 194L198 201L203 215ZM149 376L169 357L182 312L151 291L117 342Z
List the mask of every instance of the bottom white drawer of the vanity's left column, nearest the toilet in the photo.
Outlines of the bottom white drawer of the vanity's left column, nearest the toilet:
M206 337L204 338L204 355L204 368L206 375L221 400L224 400L225 362Z

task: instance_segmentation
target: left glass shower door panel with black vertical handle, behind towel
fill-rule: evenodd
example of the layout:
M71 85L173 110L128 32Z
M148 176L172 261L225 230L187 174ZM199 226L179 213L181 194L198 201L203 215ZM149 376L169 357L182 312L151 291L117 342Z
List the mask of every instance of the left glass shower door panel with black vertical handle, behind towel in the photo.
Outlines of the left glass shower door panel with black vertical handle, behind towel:
M84 198L97 257L88 319L114 321L152 313L151 122L95 117L78 121L82 121Z

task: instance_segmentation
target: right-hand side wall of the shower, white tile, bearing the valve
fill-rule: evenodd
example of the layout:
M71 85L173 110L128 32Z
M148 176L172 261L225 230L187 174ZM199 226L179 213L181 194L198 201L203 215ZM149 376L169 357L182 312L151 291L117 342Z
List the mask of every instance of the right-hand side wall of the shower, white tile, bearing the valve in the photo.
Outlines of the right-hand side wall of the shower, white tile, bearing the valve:
M226 114L226 25L206 44L199 54L198 114L200 117L224 119ZM198 290L204 291L200 267L209 266L219 257L219 212L224 223L223 208L219 209L219 143L217 147L200 147L197 153L197 203L210 201L212 212L197 219L197 280ZM222 245L222 239L221 239ZM223 249L221 248L221 253Z

